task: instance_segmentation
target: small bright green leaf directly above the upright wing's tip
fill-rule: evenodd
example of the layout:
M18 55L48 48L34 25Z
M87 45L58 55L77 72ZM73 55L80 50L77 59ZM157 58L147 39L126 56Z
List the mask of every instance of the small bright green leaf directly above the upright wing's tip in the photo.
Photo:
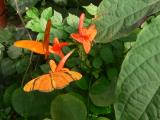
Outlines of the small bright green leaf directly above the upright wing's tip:
M44 9L43 12L41 13L41 18L44 18L45 20L48 20L51 17L52 17L52 8L51 7Z

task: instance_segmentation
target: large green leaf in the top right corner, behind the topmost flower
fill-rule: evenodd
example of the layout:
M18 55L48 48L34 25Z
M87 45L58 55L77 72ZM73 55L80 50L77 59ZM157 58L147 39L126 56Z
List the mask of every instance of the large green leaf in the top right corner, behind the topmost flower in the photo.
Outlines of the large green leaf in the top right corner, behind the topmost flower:
M160 0L103 0L95 19L96 42L107 43L128 34L159 10Z

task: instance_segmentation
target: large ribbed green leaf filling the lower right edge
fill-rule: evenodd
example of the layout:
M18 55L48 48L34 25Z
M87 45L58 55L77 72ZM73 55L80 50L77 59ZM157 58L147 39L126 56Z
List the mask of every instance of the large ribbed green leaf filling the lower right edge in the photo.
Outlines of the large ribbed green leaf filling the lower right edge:
M139 33L117 83L116 120L160 119L160 16Z

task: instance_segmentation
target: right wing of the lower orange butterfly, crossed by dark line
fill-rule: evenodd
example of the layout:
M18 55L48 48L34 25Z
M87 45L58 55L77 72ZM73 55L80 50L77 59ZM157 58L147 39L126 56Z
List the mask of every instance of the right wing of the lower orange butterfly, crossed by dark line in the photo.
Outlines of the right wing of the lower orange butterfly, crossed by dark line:
M69 85L72 81L80 80L82 75L74 71L55 72L53 73L53 80L56 89L62 89Z

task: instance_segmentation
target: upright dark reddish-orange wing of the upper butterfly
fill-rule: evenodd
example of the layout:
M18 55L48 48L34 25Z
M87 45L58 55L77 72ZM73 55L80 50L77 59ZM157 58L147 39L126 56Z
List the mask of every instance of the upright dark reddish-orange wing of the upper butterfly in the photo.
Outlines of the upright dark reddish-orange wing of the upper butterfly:
M45 35L44 35L44 42L43 42L43 48L45 53L45 58L49 54L49 36L50 36L50 28L51 28L51 20L48 20L46 29L45 29Z

